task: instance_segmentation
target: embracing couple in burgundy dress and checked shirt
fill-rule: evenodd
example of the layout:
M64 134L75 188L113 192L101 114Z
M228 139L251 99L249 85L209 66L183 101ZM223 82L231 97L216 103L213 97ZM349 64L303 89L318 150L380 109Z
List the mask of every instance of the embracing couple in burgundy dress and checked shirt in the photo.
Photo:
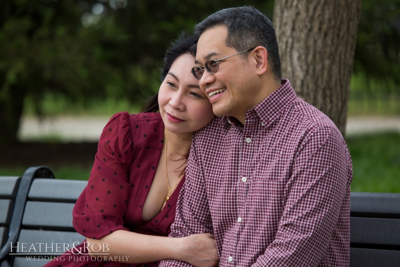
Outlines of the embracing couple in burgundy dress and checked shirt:
M281 79L264 15L210 15L169 48L161 80L143 113L104 127L73 209L83 251L124 261L46 266L349 265L349 152Z

